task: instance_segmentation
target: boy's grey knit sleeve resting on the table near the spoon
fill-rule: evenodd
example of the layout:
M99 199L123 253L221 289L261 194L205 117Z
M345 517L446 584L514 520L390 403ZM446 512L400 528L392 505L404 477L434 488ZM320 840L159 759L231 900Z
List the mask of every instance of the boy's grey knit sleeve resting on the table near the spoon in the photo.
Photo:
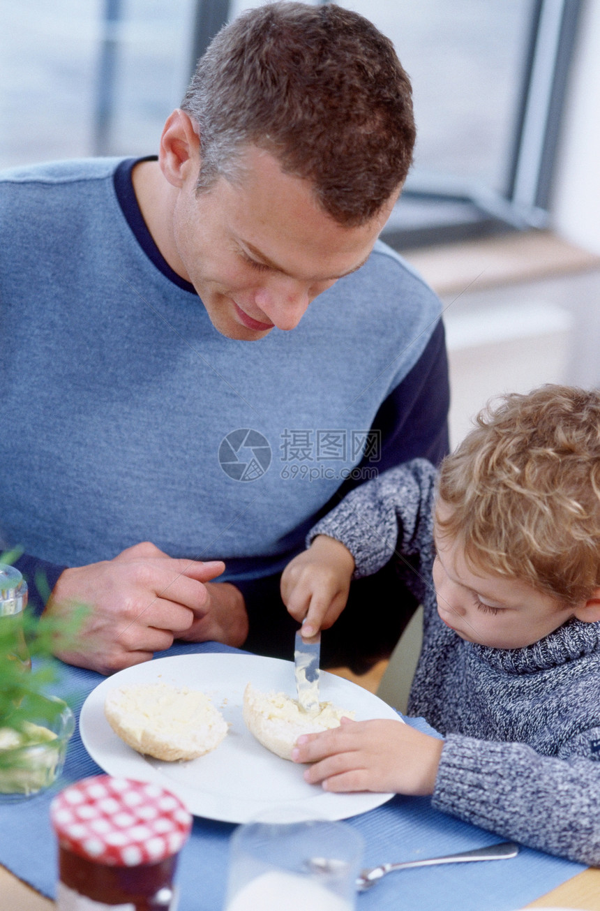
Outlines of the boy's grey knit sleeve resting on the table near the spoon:
M600 728L584 740L600 743ZM585 756L559 759L524 743L448 734L432 805L529 847L600 865L600 762Z

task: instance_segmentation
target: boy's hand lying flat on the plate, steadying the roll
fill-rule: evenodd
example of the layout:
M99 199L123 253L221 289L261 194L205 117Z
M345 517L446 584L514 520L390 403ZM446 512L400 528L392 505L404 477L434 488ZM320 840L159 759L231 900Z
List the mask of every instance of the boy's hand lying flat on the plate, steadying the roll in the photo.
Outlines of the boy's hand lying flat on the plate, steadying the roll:
M304 773L325 791L393 791L431 794L443 741L402 722L351 722L319 734L303 734L291 758L314 763Z

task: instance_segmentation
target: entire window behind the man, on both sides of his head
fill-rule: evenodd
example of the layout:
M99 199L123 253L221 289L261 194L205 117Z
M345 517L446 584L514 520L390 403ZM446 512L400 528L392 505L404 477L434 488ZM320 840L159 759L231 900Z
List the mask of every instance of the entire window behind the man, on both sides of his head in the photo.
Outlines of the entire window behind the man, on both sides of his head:
M412 77L415 162L385 238L544 227L581 0L350 0ZM259 0L21 0L0 28L0 165L147 155L219 26Z

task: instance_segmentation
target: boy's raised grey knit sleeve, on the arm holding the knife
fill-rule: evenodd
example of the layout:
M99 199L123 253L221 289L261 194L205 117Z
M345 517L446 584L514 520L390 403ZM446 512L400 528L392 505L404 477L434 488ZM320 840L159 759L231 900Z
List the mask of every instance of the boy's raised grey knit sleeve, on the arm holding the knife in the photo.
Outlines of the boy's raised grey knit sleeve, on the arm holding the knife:
M310 529L341 541L356 563L354 578L371 576L397 558L431 555L436 471L425 459L392 468L352 490Z

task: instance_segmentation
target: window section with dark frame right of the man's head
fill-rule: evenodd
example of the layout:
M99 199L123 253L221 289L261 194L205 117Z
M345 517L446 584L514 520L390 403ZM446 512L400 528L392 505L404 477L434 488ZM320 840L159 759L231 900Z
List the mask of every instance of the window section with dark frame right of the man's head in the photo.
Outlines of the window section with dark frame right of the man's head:
M544 227L579 0L341 5L392 38L412 78L415 159L386 239Z

